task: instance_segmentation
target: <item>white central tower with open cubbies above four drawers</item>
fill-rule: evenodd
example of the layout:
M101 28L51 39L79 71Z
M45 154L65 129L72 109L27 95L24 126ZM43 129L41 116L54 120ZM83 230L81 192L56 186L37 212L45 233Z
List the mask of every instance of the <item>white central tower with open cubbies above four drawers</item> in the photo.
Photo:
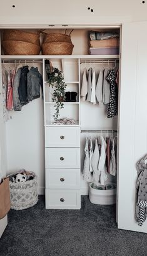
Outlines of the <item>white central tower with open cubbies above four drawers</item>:
M45 61L45 60L44 60ZM68 118L68 124L59 125L54 121L56 102L53 102L53 90L46 83L46 65L44 63L44 125L45 125L45 166L46 166L46 208L81 208L81 128L80 128L80 59L51 58L56 68L63 68L66 78L66 92L75 99L66 99L59 110L59 118ZM71 120L75 120L73 123Z

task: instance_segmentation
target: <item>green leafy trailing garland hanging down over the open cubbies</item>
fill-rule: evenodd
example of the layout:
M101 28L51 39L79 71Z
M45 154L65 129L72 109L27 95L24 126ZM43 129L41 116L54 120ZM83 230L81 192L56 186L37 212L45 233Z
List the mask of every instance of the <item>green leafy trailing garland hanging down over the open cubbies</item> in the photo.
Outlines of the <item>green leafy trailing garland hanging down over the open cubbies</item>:
M59 110L64 108L64 101L65 101L65 93L66 93L66 84L64 83L64 76L62 71L58 68L52 68L51 73L48 76L48 83L49 86L54 88L53 92L53 102L55 103L55 113L54 113L54 120L58 120L59 117Z

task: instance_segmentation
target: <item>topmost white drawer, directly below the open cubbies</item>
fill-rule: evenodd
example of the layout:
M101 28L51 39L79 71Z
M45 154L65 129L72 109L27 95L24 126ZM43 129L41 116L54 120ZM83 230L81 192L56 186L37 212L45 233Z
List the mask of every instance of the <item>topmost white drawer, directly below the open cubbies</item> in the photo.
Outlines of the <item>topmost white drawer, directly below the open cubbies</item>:
M46 147L79 147L79 127L46 127Z

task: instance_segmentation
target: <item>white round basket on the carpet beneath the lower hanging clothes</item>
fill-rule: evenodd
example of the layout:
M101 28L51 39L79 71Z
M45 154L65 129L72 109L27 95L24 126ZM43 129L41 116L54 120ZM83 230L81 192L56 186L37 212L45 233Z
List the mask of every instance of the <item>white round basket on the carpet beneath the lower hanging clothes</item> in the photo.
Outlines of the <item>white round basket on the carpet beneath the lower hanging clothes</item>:
M92 183L89 183L89 200L91 203L97 205L114 205L116 203L116 188L98 190L91 187Z

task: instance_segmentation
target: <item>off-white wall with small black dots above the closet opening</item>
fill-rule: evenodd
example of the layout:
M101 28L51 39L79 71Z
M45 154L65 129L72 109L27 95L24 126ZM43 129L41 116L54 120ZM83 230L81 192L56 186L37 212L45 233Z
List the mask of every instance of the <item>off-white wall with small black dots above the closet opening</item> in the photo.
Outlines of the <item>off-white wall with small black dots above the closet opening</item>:
M1 1L1 25L113 24L146 19L140 0ZM13 8L15 5L15 8ZM88 10L93 9L93 13Z

